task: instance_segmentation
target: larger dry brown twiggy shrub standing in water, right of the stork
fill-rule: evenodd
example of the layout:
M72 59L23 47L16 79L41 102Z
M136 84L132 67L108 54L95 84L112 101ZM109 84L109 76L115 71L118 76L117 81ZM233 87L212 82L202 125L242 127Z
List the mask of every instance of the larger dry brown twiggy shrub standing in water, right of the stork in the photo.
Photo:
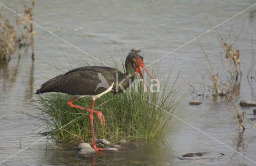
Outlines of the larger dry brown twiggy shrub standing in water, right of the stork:
M209 21L210 25L211 22ZM242 32L242 28L238 35L235 35L233 28L231 27L230 34L226 39L224 39L223 35L218 33L216 29L214 29L213 33L218 42L220 43L220 47L224 50L225 57L223 57L222 53L219 53L219 59L221 61L221 65L215 66L212 65L212 62L208 58L208 55L204 52L200 41L198 40L198 44L202 49L202 53L206 57L209 68L206 68L206 73L201 73L202 82L199 83L203 88L206 88L203 93L196 90L193 85L189 84L191 90L194 94L198 96L204 96L207 92L208 94L212 94L212 96L227 96L228 94L232 94L233 92L239 91L240 82L242 78L242 69L240 66L240 51L236 48L234 49L234 44L238 39L240 33ZM234 41L231 39L231 34L234 35ZM227 41L230 40L230 43Z

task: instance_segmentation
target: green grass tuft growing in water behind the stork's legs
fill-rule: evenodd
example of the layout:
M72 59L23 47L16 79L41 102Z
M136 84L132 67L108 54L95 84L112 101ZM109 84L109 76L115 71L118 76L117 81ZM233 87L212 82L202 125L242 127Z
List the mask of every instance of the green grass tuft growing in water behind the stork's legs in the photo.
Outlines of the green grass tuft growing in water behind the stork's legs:
M152 65L149 70L153 76L160 78L159 67ZM94 114L95 136L107 139L112 143L120 139L154 140L164 136L164 133L168 132L168 124L172 116L146 100L169 113L174 111L178 104L174 100L179 87L175 85L178 76L169 85L171 73L172 67L169 67L167 76L165 76L166 79L160 80L160 92L149 93L145 91L143 82L136 83L136 79L139 78L137 76L132 86L126 89L126 92L120 95L114 95L110 92L97 99L94 108L100 105L95 110L102 112L106 124L105 126L101 125L97 115ZM144 74L146 75L146 73ZM146 82L148 87L154 83L149 80L149 77L147 77ZM72 98L73 96L62 93L38 95L36 109L39 110L39 113L35 117L42 121L44 126L47 126L46 131L50 131L48 134L55 131L52 135L58 141L88 141L92 137L89 113L68 106L67 102ZM106 103L103 104L104 102ZM75 100L73 104L90 108L91 98L80 98ZM84 113L86 114L80 117ZM76 120L70 123L74 119ZM63 127L64 125L66 126Z

